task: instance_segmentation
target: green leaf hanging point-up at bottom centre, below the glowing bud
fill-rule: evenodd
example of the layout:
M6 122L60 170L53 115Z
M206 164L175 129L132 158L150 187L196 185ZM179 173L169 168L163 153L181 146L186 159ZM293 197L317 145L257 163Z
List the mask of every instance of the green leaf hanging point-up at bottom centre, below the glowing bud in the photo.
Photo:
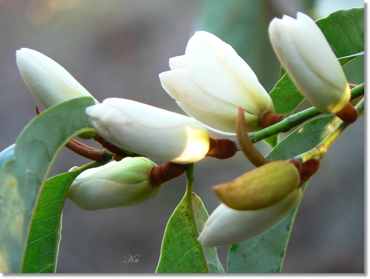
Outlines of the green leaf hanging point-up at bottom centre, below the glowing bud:
M188 171L187 176L186 193L168 220L155 273L223 273L216 247L203 247L197 241L208 213L191 190Z

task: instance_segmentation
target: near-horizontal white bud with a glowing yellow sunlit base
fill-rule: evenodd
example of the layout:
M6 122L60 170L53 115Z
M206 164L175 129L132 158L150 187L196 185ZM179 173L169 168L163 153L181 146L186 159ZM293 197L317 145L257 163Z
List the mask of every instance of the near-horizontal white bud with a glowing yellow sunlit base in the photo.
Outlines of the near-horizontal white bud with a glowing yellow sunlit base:
M209 149L207 129L185 115L121 98L105 99L86 113L103 138L145 156L188 164Z

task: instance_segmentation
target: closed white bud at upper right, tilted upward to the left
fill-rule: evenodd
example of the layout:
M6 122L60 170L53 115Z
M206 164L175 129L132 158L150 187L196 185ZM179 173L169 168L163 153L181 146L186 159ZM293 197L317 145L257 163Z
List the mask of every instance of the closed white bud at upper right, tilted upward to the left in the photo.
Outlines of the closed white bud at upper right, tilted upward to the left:
M290 78L318 110L337 113L351 98L350 86L336 55L309 16L284 15L269 25L273 49Z

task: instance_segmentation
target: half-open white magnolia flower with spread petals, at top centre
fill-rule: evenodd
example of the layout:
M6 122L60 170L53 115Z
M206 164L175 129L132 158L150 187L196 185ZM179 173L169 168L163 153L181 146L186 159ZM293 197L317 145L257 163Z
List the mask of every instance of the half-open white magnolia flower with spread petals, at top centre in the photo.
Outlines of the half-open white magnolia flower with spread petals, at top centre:
M212 131L235 134L238 106L244 109L249 131L261 129L260 118L274 112L251 67L211 33L196 32L185 55L170 58L169 66L170 71L159 74L163 88L185 113Z

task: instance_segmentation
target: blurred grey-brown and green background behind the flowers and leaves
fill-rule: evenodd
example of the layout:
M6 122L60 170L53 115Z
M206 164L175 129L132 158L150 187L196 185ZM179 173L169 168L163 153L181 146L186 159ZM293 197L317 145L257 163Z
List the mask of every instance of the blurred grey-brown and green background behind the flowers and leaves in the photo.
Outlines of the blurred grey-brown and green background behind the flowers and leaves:
M168 58L185 53L196 30L231 44L269 92L280 67L267 31L274 16L302 11L318 19L360 6L361 0L0 0L0 150L16 141L35 105L41 107L18 72L17 49L46 54L99 101L129 98L184 114L158 74L169 70ZM363 57L345 71L349 82L363 82ZM364 272L364 123L361 117L346 129L321 161L298 211L283 272ZM270 150L264 142L256 146L265 155ZM87 162L64 148L50 176ZM240 152L195 164L194 191L208 213L219 205L211 186L252 168ZM168 218L184 193L183 175L134 207L88 212L66 200L57 272L153 273ZM218 248L225 269L228 248ZM124 263L127 254L139 255L139 262Z

